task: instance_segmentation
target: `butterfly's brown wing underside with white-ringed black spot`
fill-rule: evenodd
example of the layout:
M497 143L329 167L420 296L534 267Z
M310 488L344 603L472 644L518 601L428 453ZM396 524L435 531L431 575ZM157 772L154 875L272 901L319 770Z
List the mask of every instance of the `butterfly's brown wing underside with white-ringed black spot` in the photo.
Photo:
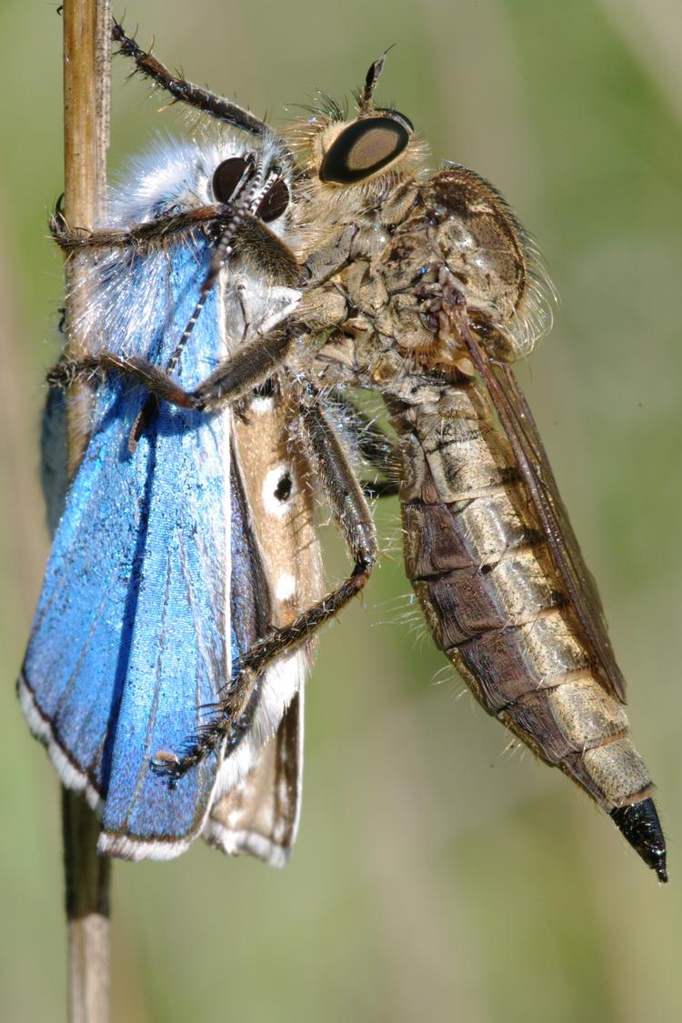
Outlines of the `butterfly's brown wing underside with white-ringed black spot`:
M232 434L236 657L262 638L264 625L285 625L322 591L310 469L293 436L295 409L276 381L270 392L251 400ZM304 681L312 648L282 655L266 669L254 729L235 751L245 762L238 772L231 755L221 767L225 791L203 837L223 852L249 853L275 866L289 858L301 810Z

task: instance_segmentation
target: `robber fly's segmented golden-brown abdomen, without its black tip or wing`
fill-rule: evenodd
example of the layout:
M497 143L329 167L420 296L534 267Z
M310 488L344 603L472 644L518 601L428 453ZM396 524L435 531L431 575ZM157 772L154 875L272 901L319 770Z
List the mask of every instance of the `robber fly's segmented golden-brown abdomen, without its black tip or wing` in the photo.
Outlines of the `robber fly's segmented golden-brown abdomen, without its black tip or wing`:
M597 680L506 438L474 381L394 406L407 573L437 644L478 700L607 810L650 780Z

